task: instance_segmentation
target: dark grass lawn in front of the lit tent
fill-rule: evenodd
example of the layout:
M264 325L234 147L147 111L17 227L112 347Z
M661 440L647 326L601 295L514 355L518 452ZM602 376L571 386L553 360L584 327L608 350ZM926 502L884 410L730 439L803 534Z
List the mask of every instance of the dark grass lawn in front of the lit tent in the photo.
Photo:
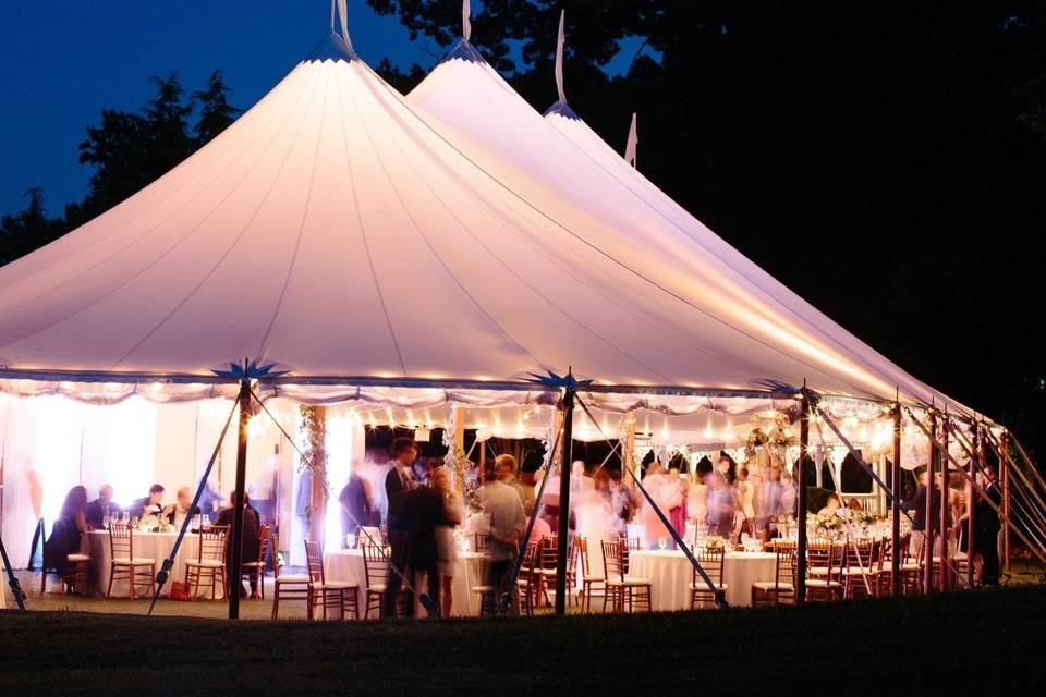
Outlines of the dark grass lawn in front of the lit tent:
M1046 588L698 613L241 622L0 613L0 695L1044 694Z

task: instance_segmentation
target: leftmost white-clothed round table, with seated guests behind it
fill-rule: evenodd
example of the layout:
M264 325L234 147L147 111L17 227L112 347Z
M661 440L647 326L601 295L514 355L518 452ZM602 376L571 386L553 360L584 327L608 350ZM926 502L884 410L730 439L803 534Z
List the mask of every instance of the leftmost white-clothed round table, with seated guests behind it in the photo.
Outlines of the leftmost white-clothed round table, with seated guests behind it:
M178 537L178 533L134 533L132 538L133 542L133 553L135 559L147 557L151 559L156 566L154 568L154 577L156 572L160 570L163 565L163 560L167 559L167 555L171 553L171 549L174 547L174 539ZM109 533L107 530L89 530L83 537L83 542L81 549L85 554L90 555L90 565L87 576L87 586L96 595L104 596L106 590L109 588L109 577L111 575L112 567L109 562L112 559L112 551L109 547ZM167 583L163 584L163 589L160 591L161 596L171 595L171 586L173 582L184 582L185 580L185 562L187 560L193 560L197 558L199 553L199 539L196 535L186 534L185 539L182 540L181 547L178 548L178 555L174 558L174 565L171 567L171 575L168 577ZM117 580L112 584L112 596L114 598L126 598L130 595L131 589L126 580ZM136 586L134 589L134 596L137 598L141 594L141 597L146 597L149 592L149 589L145 585ZM222 589L219 588L218 597L223 596ZM200 598L210 597L210 584L208 583L206 587L202 586L199 589Z

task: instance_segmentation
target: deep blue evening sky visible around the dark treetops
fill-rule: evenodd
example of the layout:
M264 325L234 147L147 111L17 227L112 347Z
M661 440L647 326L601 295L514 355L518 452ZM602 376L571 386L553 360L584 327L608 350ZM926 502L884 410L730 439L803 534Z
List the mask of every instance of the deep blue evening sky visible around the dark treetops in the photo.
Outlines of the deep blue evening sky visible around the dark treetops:
M364 0L349 0L349 17L356 52L370 64L388 56L430 65L441 52L430 39L412 44L396 17L375 15ZM179 71L191 93L218 68L232 103L246 108L329 23L329 0L0 1L0 213L24 208L32 186L44 187L52 215L82 198L90 170L76 159L87 125L104 108L141 108L153 95L149 76Z

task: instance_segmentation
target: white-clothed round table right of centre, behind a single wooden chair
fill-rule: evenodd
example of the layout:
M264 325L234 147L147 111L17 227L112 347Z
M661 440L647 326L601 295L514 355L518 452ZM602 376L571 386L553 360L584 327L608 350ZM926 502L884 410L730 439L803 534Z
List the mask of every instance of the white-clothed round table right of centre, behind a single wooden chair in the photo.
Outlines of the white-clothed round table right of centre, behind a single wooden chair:
M777 555L773 552L728 552L722 567L727 602L752 604L752 584L774 580ZM693 564L678 550L633 550L629 554L629 576L648 578L653 585L654 610L689 610Z

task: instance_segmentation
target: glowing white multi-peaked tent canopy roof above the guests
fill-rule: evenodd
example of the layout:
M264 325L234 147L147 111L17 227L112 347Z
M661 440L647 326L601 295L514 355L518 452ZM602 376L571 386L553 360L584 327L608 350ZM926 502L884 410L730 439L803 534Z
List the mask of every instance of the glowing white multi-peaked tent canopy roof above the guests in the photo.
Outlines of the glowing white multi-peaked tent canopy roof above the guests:
M946 401L467 45L408 101L333 33L188 160L0 269L5 384L202 382L245 358L302 399L572 366L597 386Z

